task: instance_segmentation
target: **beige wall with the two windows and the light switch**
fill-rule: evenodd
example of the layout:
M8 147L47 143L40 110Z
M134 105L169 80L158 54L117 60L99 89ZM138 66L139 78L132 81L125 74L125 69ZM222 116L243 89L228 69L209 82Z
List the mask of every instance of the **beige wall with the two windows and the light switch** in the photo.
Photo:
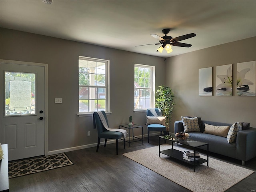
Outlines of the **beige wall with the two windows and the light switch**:
M144 125L146 113L134 113L134 64L156 66L156 87L165 82L164 58L94 46L1 28L1 59L48 64L48 150L95 144L92 116L78 117L78 56L110 60L110 127ZM62 98L55 104L54 98ZM91 136L87 136L87 131ZM141 130L135 130L141 135ZM144 134L146 134L144 126Z

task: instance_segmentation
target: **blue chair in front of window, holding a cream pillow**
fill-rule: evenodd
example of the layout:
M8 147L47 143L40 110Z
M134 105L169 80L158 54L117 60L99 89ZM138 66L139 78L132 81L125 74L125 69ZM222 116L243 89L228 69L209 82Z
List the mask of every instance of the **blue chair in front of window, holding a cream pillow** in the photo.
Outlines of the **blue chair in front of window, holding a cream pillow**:
M147 116L162 116L162 112L158 108L148 108ZM149 124L148 125L148 143L149 143L150 131L160 131L160 135L162 135L162 131L166 132L166 126L161 124Z

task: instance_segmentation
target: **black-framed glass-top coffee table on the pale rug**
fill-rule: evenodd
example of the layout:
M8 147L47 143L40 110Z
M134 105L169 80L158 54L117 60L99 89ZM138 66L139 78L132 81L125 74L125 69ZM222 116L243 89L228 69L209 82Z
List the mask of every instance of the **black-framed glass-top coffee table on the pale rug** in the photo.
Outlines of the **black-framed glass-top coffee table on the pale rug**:
M167 149L167 150L160 150L160 140L168 140L172 142L172 148L171 149ZM193 161L187 161L183 159L183 151L179 151L173 148L173 143L177 143L178 144L182 144L183 147L186 148L186 146L189 146L188 150L191 150L190 148L192 148L192 151L194 151L194 154L196 154L196 149L198 147L201 146L206 146L207 147L207 159L201 158L199 160L195 160L196 157L194 157ZM209 166L209 144L208 143L204 143L204 142L200 142L200 141L194 141L194 140L190 140L190 139L186 139L186 140L181 140L179 138L176 138L174 133L170 133L169 135L164 135L164 136L160 136L159 137L159 157L160 157L160 153L165 154L167 156L170 156L172 158L178 159L181 162L185 162L187 164L193 165L194 166L194 172L196 171L196 166L200 165L202 163L207 162L207 166Z

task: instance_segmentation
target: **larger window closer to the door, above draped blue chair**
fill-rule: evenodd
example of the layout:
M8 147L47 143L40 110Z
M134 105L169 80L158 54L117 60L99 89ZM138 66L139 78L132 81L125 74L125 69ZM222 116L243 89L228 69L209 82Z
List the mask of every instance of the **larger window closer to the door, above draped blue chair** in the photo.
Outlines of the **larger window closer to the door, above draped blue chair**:
M108 60L79 56L79 113L108 112Z

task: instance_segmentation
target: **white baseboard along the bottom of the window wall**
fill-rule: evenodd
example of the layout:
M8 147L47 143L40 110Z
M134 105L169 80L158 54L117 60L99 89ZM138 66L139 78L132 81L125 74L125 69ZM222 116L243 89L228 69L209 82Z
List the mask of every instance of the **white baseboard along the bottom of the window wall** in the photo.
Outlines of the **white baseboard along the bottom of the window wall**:
M150 134L150 136L155 136L155 135L159 135L159 132ZM142 138L142 135L139 135L136 137ZM147 138L148 134L144 135L143 137ZM132 137L130 137L130 139L132 139ZM128 140L128 138L126 138L126 140ZM100 145L104 145L104 143L105 143L105 141L100 142ZM116 143L116 140L108 140L107 144L110 144L110 143ZM86 148L91 148L91 147L96 147L96 146L97 146L97 143L92 143L92 144L88 144L88 145L81 145L81 146L76 146L76 147L58 149L58 150L48 151L48 153L46 155L54 155L54 154L65 153L65 152L69 152L69 151L86 149Z

